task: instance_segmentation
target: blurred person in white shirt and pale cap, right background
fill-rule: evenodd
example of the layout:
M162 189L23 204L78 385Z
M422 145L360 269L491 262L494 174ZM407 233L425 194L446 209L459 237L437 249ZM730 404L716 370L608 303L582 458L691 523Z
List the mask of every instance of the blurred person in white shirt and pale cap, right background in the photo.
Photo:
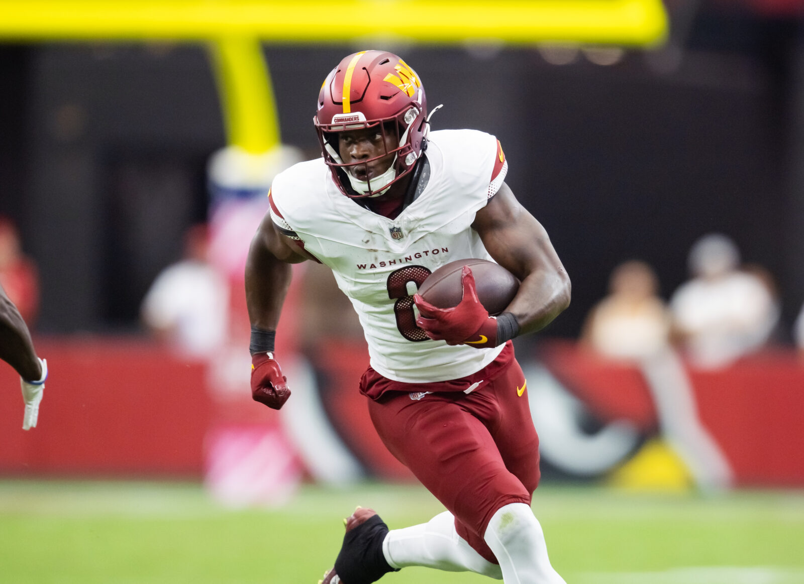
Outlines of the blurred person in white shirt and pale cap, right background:
M695 366L728 366L769 340L779 307L756 273L740 270L740 251L722 234L704 235L691 247L692 279L671 298L676 334Z

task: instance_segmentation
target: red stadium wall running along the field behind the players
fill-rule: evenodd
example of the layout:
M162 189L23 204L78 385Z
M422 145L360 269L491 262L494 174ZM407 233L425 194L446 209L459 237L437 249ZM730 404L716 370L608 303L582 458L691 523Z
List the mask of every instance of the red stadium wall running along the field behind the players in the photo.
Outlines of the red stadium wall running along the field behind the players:
M51 378L39 427L31 431L21 429L18 377L0 366L2 475L200 477L211 428L277 425L276 412L250 401L248 386L215 401L203 365L179 361L156 345L38 339L37 349ZM646 436L657 431L638 370L569 343L547 343L538 357L602 421L630 419ZM347 447L375 476L409 479L376 437L358 394L364 347L335 345L313 361L326 384L322 405ZM765 353L726 370L688 374L700 418L737 484L804 486L804 363L797 355Z

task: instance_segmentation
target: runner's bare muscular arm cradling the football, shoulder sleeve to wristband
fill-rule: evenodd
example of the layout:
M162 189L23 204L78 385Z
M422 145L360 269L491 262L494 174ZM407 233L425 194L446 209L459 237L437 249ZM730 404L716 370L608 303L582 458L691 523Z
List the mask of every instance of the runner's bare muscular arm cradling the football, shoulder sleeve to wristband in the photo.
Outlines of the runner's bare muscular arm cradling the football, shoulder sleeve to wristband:
M519 334L544 329L569 306L567 271L544 230L503 182L472 223L491 257L521 280L504 312L511 312Z

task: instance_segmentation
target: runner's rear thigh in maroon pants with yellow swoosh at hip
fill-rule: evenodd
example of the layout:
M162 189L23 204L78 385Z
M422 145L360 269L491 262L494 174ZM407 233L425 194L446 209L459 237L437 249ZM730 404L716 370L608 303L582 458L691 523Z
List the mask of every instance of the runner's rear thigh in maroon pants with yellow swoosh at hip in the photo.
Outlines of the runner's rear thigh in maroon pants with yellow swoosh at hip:
M527 399L527 380L517 361L511 361L492 387L499 411L492 437L510 470L532 493L539 484L539 436Z

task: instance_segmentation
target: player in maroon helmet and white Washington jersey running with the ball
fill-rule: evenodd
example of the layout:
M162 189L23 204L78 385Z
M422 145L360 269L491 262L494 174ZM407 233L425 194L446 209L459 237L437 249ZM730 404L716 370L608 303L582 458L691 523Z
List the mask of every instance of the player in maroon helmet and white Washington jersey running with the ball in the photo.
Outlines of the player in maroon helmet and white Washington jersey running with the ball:
M288 264L326 264L368 341L360 391L375 429L447 511L389 531L358 508L323 582L367 584L404 566L564 582L531 511L539 441L511 339L568 306L569 279L504 182L497 139L428 122L421 80L397 55L360 51L326 77L314 116L322 157L275 178L248 254L252 396L277 409L289 398L273 346ZM466 258L521 280L503 314L489 316L466 267L457 307L416 294L437 267Z

